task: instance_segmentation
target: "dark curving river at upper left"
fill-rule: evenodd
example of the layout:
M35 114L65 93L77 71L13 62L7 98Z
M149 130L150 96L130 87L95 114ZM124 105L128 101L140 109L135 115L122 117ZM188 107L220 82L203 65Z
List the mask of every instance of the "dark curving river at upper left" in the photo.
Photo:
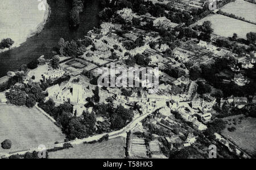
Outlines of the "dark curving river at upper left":
M80 14L81 24L77 30L69 28L69 11L71 2L68 0L47 0L51 14L42 31L27 39L19 47L0 53L0 77L8 71L19 69L20 65L44 55L52 56L60 38L65 40L79 39L86 35L94 26L98 26L99 1L88 0L84 11Z

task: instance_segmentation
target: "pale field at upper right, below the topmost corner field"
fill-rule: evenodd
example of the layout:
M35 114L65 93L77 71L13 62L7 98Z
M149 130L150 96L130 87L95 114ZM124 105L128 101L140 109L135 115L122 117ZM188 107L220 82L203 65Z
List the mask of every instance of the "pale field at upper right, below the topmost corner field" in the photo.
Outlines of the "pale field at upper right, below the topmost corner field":
M242 20L229 18L228 16L220 15L220 14L212 14L207 17L199 20L195 24L203 24L204 21L209 20L212 23L212 28L214 30L214 34L220 36L231 36L234 33L237 33L238 38L245 38L247 32L256 32L256 25L243 22ZM194 24L193 24L194 25Z

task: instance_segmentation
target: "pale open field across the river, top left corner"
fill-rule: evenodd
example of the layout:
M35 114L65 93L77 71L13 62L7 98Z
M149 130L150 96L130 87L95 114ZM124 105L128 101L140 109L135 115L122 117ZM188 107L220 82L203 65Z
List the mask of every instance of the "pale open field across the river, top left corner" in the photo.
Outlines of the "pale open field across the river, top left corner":
M43 9L40 9L40 5ZM0 40L11 38L14 40L11 48L19 47L28 38L43 30L50 14L49 10L46 0L42 2L4 0L0 7ZM0 52L8 50L8 48L0 49Z

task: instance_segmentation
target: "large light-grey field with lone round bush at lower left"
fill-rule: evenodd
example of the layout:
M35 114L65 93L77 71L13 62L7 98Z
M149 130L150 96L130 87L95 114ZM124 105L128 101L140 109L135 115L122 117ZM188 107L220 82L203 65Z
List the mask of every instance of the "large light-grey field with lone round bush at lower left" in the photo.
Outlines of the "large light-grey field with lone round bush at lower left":
M0 143L10 139L13 146L10 150L0 152L16 152L37 148L40 144L51 147L56 141L63 142L65 135L39 110L11 105L0 105Z

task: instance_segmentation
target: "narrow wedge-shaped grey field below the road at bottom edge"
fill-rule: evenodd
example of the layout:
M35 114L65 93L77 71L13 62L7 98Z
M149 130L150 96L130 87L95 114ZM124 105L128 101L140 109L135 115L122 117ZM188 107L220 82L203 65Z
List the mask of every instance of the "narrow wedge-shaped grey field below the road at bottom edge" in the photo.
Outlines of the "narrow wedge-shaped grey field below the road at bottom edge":
M115 138L102 143L79 144L56 152L49 152L50 159L123 159L125 138Z

